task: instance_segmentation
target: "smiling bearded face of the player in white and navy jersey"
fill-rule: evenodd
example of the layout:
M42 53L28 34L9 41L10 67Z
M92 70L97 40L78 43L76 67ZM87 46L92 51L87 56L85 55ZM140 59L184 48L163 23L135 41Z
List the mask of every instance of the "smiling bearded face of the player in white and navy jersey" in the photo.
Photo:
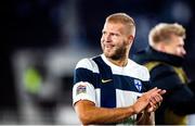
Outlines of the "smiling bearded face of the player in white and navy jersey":
M106 58L121 59L129 52L130 37L120 23L105 23L102 30L101 46Z

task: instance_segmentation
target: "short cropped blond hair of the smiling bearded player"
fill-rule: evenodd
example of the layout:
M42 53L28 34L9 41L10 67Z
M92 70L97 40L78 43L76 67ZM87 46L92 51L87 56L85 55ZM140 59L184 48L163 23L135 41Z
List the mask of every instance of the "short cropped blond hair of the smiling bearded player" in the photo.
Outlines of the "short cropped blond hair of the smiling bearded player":
M121 23L126 25L128 34L134 36L135 34L135 23L134 20L126 13L114 13L106 17L108 23Z

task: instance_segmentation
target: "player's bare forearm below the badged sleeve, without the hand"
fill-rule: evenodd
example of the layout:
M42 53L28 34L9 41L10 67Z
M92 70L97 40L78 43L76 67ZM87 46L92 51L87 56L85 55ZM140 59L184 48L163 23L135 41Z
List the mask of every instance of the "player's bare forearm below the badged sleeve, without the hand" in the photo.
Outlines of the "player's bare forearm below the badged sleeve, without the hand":
M105 109L96 106L76 108L82 124L115 124L121 123L129 116L135 114L132 106Z

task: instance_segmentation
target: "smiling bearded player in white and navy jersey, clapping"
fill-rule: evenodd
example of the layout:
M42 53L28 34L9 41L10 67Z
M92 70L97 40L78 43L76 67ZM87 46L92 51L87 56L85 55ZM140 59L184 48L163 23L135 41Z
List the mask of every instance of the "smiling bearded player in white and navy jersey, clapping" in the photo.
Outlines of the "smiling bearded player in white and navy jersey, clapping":
M154 124L154 111L166 91L145 92L148 71L128 59L134 35L133 18L112 14L102 30L103 54L78 62L73 99L82 124Z

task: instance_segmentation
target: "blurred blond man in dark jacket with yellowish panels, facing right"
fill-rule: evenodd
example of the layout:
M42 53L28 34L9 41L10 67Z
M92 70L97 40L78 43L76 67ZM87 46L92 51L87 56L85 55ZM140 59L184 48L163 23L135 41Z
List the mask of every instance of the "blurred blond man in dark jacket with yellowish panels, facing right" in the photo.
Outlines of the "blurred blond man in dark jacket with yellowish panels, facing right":
M185 29L180 24L160 23L148 35L150 47L134 55L151 74L152 87L166 89L164 102L156 111L156 124L185 125L186 114L195 112L193 85L182 67Z

